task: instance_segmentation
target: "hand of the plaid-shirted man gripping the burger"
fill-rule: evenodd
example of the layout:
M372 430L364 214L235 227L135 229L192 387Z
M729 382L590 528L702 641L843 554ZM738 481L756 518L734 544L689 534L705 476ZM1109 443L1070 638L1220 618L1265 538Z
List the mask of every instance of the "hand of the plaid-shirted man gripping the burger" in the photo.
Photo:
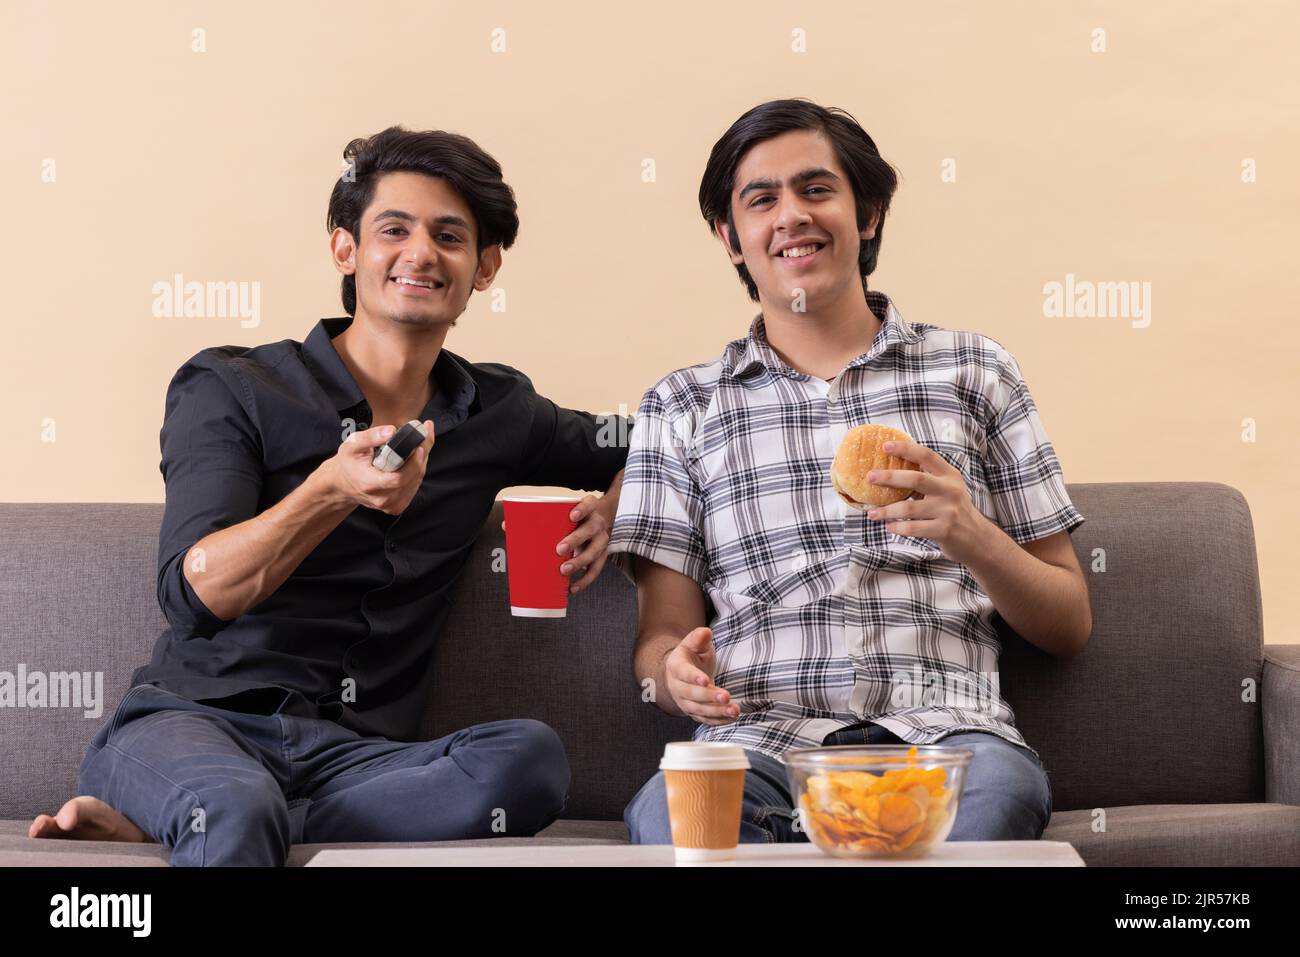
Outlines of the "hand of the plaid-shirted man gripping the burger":
M922 471L883 468L871 472L867 481L919 494L871 508L867 518L885 521L885 529L893 534L932 540L953 562L966 563L978 554L989 521L971 502L961 471L916 442L885 442L884 451L915 462Z

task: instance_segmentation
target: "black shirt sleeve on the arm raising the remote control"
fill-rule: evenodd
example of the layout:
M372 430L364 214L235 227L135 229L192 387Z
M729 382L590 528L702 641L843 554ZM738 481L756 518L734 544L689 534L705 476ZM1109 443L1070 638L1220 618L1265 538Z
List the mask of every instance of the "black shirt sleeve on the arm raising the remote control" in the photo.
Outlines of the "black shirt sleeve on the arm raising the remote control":
M177 633L211 637L229 623L195 593L185 562L204 536L257 514L263 454L260 433L235 393L243 391L238 373L217 372L202 355L182 365L168 386L160 434L166 505L159 531L157 597Z

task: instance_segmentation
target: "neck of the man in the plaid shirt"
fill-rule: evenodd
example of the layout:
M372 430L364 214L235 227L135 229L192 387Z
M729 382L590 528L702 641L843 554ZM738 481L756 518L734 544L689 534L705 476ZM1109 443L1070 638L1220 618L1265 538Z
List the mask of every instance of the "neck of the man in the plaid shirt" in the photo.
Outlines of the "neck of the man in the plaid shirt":
M762 306L767 345L796 372L826 380L870 351L881 325L861 282L807 312L794 312L785 302L763 299Z

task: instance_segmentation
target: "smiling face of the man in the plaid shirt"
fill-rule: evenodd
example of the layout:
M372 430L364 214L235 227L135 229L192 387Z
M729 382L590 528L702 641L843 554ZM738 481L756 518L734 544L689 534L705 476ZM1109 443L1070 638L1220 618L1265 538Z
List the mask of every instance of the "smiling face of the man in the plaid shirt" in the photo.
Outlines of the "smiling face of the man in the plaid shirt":
M731 209L728 252L753 277L764 313L792 312L800 290L806 312L862 298L858 252L879 213L858 229L853 186L822 133L792 130L755 144L736 168ZM727 224L714 229L727 244Z

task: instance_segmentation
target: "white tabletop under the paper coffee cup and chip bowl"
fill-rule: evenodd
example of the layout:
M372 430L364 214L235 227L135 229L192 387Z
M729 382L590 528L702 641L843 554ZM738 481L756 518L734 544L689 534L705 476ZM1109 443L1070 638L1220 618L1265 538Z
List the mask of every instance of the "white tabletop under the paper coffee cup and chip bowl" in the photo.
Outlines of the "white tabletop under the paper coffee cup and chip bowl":
M493 848L321 850L308 867L672 867L667 844L543 844ZM916 861L852 859L811 844L741 844L736 859L690 867L1083 867L1065 841L945 841Z

